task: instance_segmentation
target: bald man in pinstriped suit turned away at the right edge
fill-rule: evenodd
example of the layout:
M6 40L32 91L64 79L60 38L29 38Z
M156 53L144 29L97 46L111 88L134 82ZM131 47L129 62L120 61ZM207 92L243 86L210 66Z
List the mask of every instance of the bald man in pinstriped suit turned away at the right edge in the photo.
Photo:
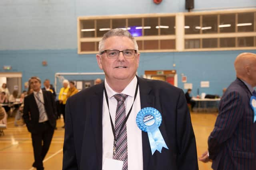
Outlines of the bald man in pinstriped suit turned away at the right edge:
M214 170L255 170L256 122L250 98L256 96L256 54L238 55L234 67L237 78L220 100L208 151L199 160L212 160Z

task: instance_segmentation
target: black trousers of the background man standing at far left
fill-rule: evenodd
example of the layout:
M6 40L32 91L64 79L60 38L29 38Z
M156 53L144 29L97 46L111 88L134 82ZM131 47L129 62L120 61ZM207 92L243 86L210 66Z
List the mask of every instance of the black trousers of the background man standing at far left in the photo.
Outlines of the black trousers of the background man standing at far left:
M31 133L35 162L33 166L37 170L43 170L43 160L49 150L54 128L48 121L39 123L38 133Z

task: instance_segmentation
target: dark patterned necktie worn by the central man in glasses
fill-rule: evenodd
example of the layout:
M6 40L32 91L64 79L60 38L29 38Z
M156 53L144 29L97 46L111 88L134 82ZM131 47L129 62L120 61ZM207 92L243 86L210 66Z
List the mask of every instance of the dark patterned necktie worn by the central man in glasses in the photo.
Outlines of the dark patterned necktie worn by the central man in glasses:
M113 159L124 161L122 170L128 170L128 149L127 149L127 133L126 125L124 125L121 132L120 128L126 117L124 101L127 98L126 94L115 94L114 98L117 100L116 119L115 119L115 135L116 145L114 144ZM119 134L120 133L120 134ZM117 136L118 135L118 136Z

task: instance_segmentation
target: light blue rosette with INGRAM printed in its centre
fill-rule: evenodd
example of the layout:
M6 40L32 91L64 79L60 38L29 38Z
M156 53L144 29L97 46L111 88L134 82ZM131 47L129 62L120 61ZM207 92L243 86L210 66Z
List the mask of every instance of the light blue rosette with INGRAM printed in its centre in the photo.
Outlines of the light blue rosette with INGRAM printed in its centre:
M162 115L157 109L153 107L141 109L137 114L136 123L140 130L148 133L152 155L156 150L161 153L163 147L168 149L158 128L162 123Z

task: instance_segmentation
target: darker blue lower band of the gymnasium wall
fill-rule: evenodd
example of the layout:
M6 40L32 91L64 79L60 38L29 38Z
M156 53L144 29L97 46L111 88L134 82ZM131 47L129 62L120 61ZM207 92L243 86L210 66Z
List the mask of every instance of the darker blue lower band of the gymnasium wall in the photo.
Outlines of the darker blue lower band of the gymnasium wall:
M183 88L181 74L193 84L193 94L197 88L207 94L222 94L235 78L234 59L243 51L183 52L183 53L142 53L138 75L144 70L176 69L178 86ZM256 53L256 50L248 51ZM39 76L42 80L50 78L54 82L56 72L102 72L98 68L95 55L78 55L70 50L17 50L0 51L1 65L12 65L13 70L22 72L22 82L30 76ZM46 60L48 66L42 66ZM176 67L173 67L173 64ZM0 72L3 72L0 68ZM210 81L210 88L200 88L200 81Z

